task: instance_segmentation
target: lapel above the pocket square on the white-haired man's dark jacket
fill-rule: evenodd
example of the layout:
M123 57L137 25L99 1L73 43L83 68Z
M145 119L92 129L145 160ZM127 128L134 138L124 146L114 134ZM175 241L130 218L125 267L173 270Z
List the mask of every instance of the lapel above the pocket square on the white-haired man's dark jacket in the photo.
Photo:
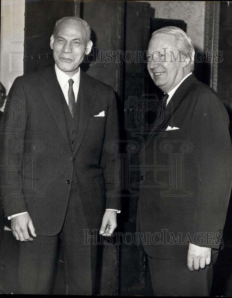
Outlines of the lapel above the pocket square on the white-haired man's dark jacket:
M162 121L162 125L161 128L163 131L163 128L165 127L165 124L168 122L168 120L170 119L170 117L172 117L174 111L176 110L176 108L178 107L178 105L181 103L184 94L186 92L186 90L189 88L189 86L196 81L196 77L192 74L190 76L188 76L181 84L180 86L176 89L175 93L173 94L171 100L170 100L170 107L169 107L169 111L170 113L165 114L165 109L164 109L164 113L163 113L163 121ZM150 136L152 136L154 134L154 132L156 132L157 128L153 128L150 132L150 134L148 135L147 139L145 140L145 142L148 141L148 139L150 138Z

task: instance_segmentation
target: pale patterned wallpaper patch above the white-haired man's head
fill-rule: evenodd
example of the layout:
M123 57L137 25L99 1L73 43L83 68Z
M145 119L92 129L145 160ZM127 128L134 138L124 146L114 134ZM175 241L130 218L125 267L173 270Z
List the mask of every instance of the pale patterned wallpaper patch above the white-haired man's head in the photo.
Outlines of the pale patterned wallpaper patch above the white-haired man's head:
M155 18L181 19L196 50L203 50L205 1L147 1L155 9Z

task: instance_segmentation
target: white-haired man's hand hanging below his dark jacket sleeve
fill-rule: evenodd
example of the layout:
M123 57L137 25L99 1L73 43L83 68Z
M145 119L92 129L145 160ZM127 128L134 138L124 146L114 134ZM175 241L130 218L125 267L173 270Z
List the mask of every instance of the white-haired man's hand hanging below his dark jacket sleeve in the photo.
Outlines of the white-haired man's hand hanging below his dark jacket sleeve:
M190 271L204 269L211 261L211 248L189 243L187 264Z

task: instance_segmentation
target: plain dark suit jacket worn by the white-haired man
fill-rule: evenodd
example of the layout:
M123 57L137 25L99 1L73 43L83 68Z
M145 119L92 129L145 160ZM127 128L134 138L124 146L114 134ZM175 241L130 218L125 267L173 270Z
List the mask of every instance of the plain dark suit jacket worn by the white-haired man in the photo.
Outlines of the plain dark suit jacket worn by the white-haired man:
M194 75L157 120L140 154L156 166L141 171L138 207L138 231L153 234L144 238L149 256L185 259L189 242L219 249L232 181L228 124L217 94Z

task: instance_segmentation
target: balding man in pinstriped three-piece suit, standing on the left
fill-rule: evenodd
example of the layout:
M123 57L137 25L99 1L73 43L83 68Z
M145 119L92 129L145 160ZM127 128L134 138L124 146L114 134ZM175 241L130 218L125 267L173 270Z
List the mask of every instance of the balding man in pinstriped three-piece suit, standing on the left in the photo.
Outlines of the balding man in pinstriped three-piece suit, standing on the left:
M58 20L50 46L55 67L16 78L4 110L4 214L20 240L23 294L50 293L59 238L68 294L91 294L91 233L112 235L120 212L107 150L119 137L116 99L79 68L92 47L85 21Z

